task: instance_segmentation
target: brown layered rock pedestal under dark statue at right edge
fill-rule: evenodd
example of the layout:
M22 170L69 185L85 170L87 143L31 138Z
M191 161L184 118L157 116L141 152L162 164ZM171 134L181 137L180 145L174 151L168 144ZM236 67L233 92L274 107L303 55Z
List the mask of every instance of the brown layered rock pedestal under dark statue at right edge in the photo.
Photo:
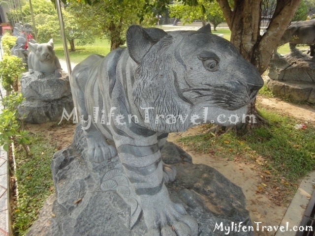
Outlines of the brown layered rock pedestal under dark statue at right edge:
M315 103L315 58L297 49L270 61L266 86L275 94Z

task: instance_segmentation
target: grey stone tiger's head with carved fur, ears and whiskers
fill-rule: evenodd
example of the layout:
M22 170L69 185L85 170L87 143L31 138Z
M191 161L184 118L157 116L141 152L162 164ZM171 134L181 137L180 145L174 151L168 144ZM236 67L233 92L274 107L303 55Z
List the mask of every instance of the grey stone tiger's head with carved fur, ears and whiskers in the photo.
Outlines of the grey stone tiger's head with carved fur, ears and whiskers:
M247 114L263 80L228 40L209 28L127 30L128 52L137 63L134 103L141 116L149 118L148 129L179 132L204 121L228 126L229 116L241 121Z

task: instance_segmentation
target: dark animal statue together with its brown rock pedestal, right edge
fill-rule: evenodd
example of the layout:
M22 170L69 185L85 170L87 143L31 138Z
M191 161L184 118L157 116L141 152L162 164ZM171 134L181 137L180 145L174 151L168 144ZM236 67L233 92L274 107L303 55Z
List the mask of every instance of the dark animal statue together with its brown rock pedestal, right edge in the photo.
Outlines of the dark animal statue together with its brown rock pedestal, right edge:
M290 53L273 55L266 86L295 101L315 103L315 20L291 22L280 44L287 42ZM298 50L297 44L308 44L310 55Z

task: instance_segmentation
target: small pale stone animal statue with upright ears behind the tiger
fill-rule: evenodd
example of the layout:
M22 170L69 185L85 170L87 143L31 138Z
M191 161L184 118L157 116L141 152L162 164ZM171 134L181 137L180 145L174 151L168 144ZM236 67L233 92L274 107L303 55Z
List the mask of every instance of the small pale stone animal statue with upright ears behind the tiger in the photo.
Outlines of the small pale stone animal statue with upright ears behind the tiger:
M29 42L31 53L29 54L28 65L31 74L35 73L37 78L43 78L45 74L62 76L62 69L59 59L55 55L53 39L48 43Z

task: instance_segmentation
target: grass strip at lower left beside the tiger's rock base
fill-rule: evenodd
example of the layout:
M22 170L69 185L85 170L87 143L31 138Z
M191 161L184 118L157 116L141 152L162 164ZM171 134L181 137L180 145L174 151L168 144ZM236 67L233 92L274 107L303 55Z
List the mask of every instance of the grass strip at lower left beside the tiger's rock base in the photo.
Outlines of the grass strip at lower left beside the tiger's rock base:
M43 135L32 134L31 153L20 149L15 153L19 198L12 207L14 236L25 236L46 199L54 193L54 183L50 164L54 153L58 150Z

